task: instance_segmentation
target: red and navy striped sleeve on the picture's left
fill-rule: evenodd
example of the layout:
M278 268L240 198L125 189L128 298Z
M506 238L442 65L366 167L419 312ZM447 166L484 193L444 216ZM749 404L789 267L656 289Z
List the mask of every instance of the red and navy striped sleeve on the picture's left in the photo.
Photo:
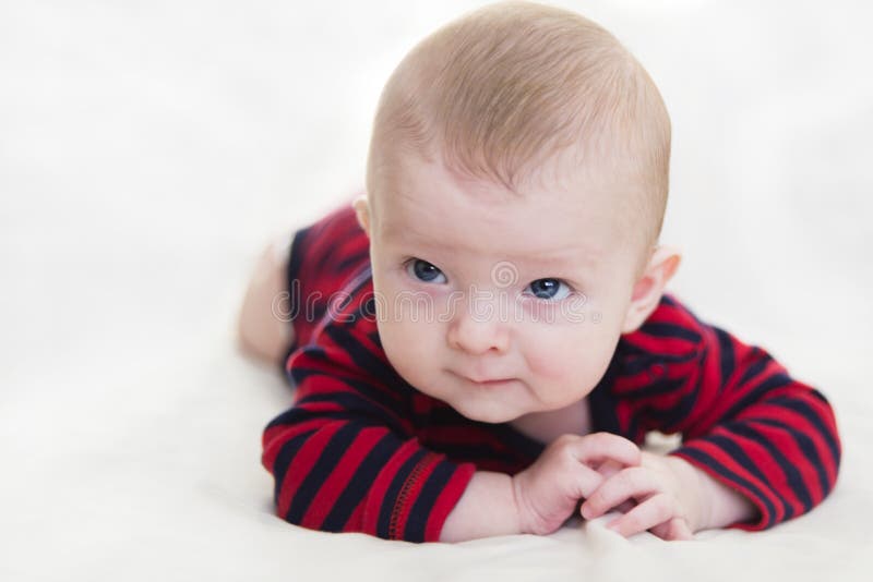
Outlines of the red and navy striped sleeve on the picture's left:
M263 432L276 513L312 530L436 542L476 465L419 444L409 386L384 357L372 296L345 301L289 357L294 404Z

